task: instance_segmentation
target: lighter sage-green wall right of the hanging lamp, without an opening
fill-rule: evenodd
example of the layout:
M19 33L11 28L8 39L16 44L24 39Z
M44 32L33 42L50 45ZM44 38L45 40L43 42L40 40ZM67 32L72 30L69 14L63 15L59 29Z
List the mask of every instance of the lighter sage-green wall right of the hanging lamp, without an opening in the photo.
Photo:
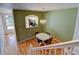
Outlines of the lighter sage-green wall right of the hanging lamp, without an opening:
M72 40L77 8L55 10L45 13L47 23L44 31L50 32L61 41Z

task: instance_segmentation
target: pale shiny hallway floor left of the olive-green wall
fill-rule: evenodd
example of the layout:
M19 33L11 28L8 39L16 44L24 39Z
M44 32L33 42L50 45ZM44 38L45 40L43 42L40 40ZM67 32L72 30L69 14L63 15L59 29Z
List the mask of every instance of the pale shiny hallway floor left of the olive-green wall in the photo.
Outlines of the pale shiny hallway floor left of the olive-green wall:
M7 34L4 37L4 55L18 55L19 51L17 50L17 41L15 34Z

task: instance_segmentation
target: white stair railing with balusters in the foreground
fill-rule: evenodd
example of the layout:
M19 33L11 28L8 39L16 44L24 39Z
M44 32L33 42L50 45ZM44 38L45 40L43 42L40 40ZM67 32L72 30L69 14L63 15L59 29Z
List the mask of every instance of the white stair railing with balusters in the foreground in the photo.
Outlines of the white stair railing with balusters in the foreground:
M51 44L41 47L29 46L30 55L72 55L73 48L79 46L79 40Z

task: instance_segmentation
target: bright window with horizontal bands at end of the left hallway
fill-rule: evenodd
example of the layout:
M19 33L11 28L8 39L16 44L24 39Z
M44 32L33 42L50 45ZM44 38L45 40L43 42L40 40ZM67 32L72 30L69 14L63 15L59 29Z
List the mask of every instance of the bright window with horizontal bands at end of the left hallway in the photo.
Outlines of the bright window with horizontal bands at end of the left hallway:
M6 25L7 29L14 29L14 22L13 22L13 16L11 15L6 15Z

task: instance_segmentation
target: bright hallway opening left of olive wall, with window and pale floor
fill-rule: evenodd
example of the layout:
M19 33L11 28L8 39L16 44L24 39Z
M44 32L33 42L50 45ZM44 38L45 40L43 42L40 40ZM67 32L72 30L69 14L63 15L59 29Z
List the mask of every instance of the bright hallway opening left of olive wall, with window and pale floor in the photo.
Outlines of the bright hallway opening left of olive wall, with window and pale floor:
M4 55L16 55L18 54L17 50L17 39L16 39L16 32L15 32L15 25L14 25L14 18L13 13L4 13L1 14L1 21L3 27L3 54Z

